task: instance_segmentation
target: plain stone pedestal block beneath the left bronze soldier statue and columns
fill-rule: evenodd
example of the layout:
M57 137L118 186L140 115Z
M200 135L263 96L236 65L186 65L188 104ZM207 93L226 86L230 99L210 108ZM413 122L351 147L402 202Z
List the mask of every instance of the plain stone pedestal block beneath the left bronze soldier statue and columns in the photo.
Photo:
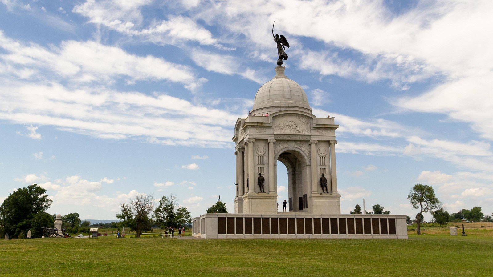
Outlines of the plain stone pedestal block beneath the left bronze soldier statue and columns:
M243 212L245 213L276 213L278 208L276 193L249 192L243 196Z

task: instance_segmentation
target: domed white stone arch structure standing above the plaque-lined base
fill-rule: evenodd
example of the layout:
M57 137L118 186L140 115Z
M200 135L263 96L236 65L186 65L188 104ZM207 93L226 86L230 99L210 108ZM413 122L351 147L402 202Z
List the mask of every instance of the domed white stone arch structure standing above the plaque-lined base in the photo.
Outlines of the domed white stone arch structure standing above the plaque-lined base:
M279 185L288 188L289 211L341 213L335 156L339 125L334 118L314 116L305 92L281 66L257 91L250 113L237 120L233 137L235 213L277 212ZM287 168L287 184L277 183L278 161ZM265 178L265 193L258 186L259 173ZM326 190L320 185L322 174Z

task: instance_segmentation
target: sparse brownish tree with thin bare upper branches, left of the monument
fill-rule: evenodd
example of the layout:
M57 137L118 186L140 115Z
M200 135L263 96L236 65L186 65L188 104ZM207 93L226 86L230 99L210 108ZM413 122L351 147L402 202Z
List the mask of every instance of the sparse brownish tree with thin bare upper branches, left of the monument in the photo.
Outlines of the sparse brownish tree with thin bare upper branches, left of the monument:
M123 203L120 213L116 218L122 220L122 226L130 227L136 231L136 238L141 237L144 230L150 229L152 219L149 217L154 209L154 197L152 194L139 193L130 200L130 205Z

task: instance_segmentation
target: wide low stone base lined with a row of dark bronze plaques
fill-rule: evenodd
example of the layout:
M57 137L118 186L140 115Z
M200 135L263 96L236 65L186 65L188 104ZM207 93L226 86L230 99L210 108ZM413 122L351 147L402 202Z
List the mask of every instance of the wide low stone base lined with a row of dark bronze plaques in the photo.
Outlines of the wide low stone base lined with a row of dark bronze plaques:
M405 214L206 213L193 218L204 239L407 239Z

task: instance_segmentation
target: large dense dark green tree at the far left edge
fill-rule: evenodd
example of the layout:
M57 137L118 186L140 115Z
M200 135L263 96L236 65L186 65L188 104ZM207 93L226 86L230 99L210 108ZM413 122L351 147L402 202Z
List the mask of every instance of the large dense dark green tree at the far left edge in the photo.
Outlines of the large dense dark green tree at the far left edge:
M26 235L32 227L35 214L46 210L53 202L45 193L46 189L37 184L12 192L0 206L0 225L3 226L1 237L5 233L11 238L17 238L19 234Z

